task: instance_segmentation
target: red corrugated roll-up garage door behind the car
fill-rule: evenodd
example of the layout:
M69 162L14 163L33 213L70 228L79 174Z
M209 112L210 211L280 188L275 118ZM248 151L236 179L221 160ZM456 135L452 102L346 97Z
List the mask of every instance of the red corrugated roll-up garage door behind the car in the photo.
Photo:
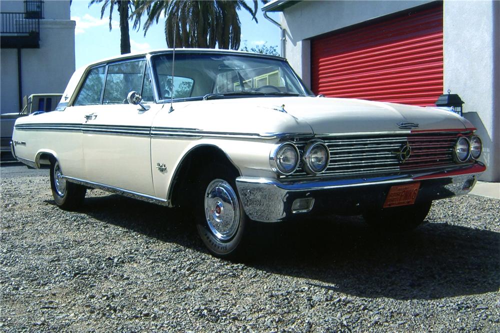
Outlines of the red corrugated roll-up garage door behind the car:
M311 40L316 94L434 105L443 91L442 5Z

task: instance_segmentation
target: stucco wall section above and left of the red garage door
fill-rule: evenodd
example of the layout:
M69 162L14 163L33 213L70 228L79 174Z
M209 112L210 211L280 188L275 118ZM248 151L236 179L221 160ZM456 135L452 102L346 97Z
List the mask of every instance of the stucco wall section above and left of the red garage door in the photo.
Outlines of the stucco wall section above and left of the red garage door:
M286 29L284 56L310 88L310 42L308 39L326 32L361 23L369 19L412 8L428 0L412 1L301 1L280 15Z

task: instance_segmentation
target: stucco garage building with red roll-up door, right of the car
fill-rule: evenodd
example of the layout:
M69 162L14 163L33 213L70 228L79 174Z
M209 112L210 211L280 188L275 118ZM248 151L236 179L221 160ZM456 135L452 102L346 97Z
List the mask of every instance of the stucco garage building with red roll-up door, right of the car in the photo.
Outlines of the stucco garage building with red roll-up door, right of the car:
M433 105L458 94L500 181L500 1L289 1L281 52L316 94Z

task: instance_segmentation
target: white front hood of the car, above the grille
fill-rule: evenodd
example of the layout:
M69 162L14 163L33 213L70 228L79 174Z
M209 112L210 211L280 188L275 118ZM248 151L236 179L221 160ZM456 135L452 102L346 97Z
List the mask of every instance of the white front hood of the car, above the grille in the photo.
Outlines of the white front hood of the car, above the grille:
M412 122L418 130L472 127L457 114L419 107L349 98L257 97L175 103L177 116L189 114L193 127L206 131L259 134L362 133L402 131ZM171 117L170 121L174 120ZM174 124L176 121L170 122Z

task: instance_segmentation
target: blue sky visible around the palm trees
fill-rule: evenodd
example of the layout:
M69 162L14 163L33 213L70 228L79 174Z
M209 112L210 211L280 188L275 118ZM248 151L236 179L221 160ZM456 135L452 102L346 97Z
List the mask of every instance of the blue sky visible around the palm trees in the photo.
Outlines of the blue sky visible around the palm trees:
M109 10L103 19L100 19L100 4L88 7L87 0L73 0L71 3L71 19L76 21L74 30L75 62L76 68L101 58L120 54L120 29L118 12L114 9L112 30L109 31ZM250 7L253 5L249 2ZM277 46L279 52L279 28L262 16L259 1L257 13L258 23L251 20L251 15L246 11L239 13L241 21L241 46L246 42L248 48L267 42L269 46ZM270 17L278 20L278 14L270 13ZM165 35L163 32L164 20L159 20L149 28L144 37L140 31L132 30L130 26L131 51L165 48Z

